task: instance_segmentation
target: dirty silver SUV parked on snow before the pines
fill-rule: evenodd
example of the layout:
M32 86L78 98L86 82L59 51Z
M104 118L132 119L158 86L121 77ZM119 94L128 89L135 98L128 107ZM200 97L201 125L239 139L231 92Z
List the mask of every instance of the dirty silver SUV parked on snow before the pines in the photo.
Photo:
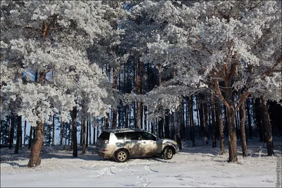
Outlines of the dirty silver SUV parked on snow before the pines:
M172 139L160 139L140 129L103 130L96 143L96 152L104 158L125 162L129 157L163 156L171 159L179 146Z

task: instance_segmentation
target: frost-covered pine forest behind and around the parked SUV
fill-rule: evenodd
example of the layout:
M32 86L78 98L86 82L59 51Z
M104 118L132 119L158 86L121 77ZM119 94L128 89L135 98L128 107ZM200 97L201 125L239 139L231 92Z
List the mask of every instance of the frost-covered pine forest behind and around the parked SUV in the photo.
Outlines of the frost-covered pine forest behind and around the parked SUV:
M29 167L128 127L272 156L281 112L278 1L1 1L1 146Z

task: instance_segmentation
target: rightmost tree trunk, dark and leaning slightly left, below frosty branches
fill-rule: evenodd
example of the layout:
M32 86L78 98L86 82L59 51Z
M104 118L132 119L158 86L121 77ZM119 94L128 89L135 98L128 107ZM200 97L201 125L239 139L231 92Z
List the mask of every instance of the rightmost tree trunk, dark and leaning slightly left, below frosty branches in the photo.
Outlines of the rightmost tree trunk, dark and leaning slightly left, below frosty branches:
M265 127L266 132L266 147L267 147L267 155L274 156L274 146L272 140L272 132L271 132L271 124L269 119L269 105L264 101L263 97L261 97L261 108L262 108L262 120Z

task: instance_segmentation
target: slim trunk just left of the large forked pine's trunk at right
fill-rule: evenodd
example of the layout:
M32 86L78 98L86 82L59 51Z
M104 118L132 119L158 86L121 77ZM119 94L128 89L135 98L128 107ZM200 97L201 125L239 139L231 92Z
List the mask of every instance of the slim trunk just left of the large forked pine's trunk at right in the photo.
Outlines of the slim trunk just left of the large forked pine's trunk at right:
M217 115L217 124L219 127L219 146L220 146L220 155L225 153L225 146L224 146L224 131L223 131L223 120L222 120L222 113L221 113L221 103L219 98L216 98L216 115Z

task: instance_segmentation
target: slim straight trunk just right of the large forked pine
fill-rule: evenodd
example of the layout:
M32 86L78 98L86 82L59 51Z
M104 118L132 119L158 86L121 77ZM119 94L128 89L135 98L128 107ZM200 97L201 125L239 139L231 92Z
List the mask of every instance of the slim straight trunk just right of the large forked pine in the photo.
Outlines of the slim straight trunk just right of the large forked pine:
M245 104L242 104L240 106L240 129L241 129L241 144L242 144L243 157L247 157L247 142L246 142L246 132L245 132L245 120L246 120Z

